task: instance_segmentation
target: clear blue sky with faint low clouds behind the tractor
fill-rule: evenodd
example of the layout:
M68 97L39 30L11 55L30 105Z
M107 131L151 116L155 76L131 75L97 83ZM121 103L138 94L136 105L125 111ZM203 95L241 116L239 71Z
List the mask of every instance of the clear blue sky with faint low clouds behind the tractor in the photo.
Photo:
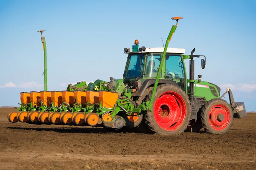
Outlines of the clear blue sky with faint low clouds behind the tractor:
M122 78L126 56L140 46L162 47L175 21L184 19L169 47L195 47L195 75L233 90L237 102L256 111L255 0L0 0L0 106L17 106L20 92L44 90L47 42L48 90L68 83ZM186 63L188 64L188 63ZM189 68L189 65L187 65Z

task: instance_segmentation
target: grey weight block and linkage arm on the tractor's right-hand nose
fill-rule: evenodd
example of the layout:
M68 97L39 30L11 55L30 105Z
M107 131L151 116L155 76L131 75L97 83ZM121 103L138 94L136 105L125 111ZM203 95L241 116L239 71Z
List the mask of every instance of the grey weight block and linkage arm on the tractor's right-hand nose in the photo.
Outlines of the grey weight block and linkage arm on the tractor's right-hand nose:
M231 88L227 88L226 92L221 96L221 98L224 97L227 93L230 99L231 108L233 109L234 118L241 119L245 117L247 115L247 112L244 107L244 102L235 102Z

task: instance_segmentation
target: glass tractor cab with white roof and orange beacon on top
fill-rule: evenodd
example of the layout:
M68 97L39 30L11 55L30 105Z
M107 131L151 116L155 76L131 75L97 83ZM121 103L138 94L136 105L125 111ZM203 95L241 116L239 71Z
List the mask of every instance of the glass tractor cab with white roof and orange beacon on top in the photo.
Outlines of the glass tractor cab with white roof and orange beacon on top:
M164 48L138 48L138 42L135 40L133 48L125 48L125 54L128 54L123 78L131 85L137 80L156 79L159 70L161 57ZM185 90L186 71L182 54L183 48L168 48L160 72L160 79L175 81L183 90Z

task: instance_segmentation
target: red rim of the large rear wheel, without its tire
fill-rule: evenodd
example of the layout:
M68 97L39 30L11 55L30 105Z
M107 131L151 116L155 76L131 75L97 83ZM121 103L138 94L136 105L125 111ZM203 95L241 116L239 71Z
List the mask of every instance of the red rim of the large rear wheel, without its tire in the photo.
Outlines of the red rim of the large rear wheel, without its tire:
M154 118L163 130L177 130L186 117L186 103L180 94L167 91L154 104Z

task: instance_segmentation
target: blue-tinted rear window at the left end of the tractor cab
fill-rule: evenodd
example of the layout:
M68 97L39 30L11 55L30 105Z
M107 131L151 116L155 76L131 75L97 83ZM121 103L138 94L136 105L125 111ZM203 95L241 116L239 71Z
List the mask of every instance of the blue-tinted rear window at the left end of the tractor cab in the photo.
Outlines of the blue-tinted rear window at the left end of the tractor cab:
M129 54L124 77L127 79L139 77L143 75L145 56L143 54Z

